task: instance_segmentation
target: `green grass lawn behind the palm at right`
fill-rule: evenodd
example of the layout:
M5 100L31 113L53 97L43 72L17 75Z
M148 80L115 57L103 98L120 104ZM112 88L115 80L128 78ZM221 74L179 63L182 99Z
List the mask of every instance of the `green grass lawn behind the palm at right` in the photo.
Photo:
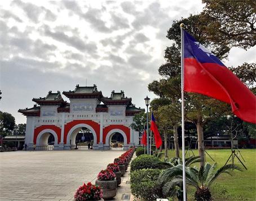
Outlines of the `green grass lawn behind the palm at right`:
M198 155L197 150L193 149L193 152ZM207 152L217 162L218 167L223 166L231 154L230 149L207 150ZM248 170L245 170L238 159L235 159L235 164L242 167L244 171L234 171L233 176L227 174L220 175L210 188L214 200L256 200L256 149L241 149L240 152L245 162L242 161L241 157L240 159L244 162ZM192 154L192 152L190 153ZM181 152L180 156L182 156ZM175 157L174 150L169 150L169 157ZM186 157L188 157L188 153ZM206 155L206 162L214 163L208 155ZM231 161L228 163L231 163ZM188 200L193 200L194 193L195 188L189 186Z

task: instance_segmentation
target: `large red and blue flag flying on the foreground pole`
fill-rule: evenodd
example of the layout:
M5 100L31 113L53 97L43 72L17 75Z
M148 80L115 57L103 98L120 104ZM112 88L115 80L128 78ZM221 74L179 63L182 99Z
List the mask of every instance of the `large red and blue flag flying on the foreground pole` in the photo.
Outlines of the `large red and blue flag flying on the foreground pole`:
M256 96L208 49L184 31L184 91L231 104L232 112L256 124Z

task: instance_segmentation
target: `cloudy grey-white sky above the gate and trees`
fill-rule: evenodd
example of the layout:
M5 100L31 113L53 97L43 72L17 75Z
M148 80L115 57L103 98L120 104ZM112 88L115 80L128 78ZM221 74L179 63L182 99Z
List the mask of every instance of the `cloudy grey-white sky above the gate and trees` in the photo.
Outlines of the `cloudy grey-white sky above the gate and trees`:
M173 20L200 13L201 1L1 1L1 111L16 123L19 108L49 90L96 84L104 96L124 90L144 107L158 79ZM226 65L253 62L255 48L231 49ZM242 55L242 57L241 57Z

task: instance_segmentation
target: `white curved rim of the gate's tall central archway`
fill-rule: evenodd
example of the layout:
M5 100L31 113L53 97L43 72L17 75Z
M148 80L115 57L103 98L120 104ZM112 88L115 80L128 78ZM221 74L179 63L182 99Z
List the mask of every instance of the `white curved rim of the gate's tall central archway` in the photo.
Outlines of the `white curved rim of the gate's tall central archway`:
M86 127L87 129L90 129L92 135L94 136L94 147L97 145L97 135L95 130L88 124L77 124L76 126L73 126L72 129L69 130L68 135L67 135L67 144L70 145L70 140L71 140L71 145L76 145L76 136L78 134L78 131L82 129L82 127Z

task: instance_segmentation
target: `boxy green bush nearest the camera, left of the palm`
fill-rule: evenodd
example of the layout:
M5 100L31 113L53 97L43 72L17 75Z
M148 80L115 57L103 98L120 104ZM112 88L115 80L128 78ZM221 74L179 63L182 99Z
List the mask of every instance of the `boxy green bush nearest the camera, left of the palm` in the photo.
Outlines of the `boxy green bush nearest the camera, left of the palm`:
M162 186L157 182L160 173L161 170L158 169L142 169L131 172L131 193L134 197L145 200L162 198Z

